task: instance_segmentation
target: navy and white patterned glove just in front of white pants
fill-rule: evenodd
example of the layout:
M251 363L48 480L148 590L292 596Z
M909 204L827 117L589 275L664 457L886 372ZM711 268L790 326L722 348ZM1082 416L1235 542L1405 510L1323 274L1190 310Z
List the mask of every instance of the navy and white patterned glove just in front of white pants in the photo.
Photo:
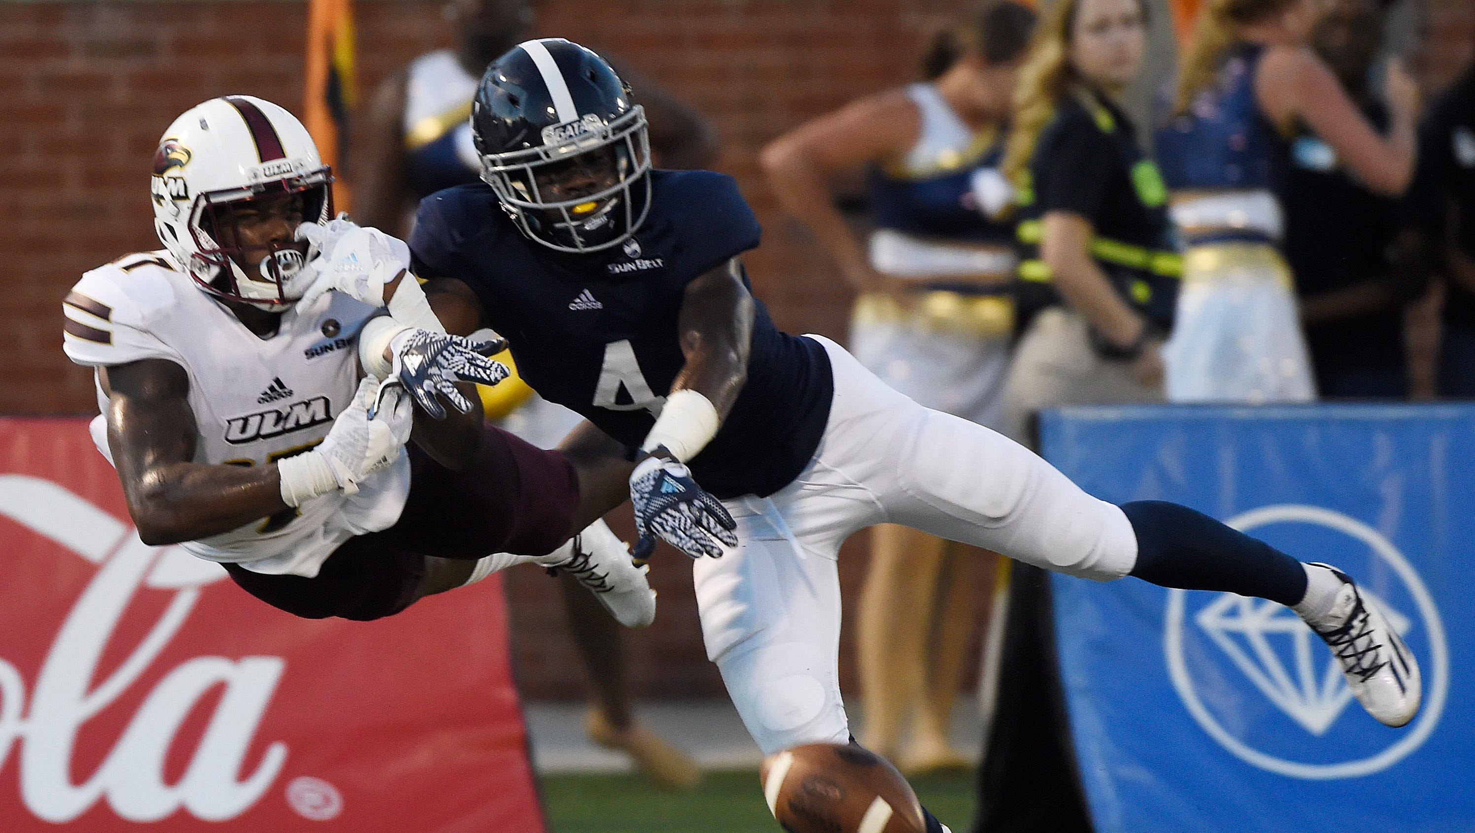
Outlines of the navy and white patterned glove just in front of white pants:
M636 547L643 563L655 550L655 538L693 559L723 557L723 546L736 547L738 522L723 504L692 479L692 472L665 448L656 448L630 473L630 501L636 509Z

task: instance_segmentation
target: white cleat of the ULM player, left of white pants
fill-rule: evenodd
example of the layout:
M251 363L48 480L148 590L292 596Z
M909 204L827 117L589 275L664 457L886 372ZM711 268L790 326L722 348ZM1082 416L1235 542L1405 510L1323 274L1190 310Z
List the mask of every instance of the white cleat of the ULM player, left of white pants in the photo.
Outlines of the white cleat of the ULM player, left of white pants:
M650 568L637 568L630 548L603 520L590 523L538 563L571 574L627 628L646 628L655 621L655 591L646 579Z

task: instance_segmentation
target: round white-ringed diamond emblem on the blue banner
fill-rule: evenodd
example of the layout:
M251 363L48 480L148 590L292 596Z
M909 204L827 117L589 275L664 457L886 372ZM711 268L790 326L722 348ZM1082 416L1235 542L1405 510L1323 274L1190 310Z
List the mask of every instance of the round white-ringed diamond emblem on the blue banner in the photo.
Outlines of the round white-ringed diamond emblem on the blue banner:
M1367 776L1417 749L1444 711L1450 661L1440 612L1407 559L1372 526L1319 506L1267 506L1227 523L1270 535L1288 551L1338 553L1336 566L1363 579L1360 591L1426 669L1425 700L1413 724L1388 734L1353 700L1326 644L1288 607L1173 590L1164 652L1199 727L1246 764L1292 778Z

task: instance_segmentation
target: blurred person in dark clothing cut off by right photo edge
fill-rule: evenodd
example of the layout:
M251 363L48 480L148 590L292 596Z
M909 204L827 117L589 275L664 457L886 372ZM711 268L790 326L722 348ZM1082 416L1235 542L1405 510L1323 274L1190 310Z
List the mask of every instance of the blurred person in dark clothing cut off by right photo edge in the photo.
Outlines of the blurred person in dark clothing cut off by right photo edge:
M1475 398L1475 63L1429 108L1410 202L1447 277L1438 392Z

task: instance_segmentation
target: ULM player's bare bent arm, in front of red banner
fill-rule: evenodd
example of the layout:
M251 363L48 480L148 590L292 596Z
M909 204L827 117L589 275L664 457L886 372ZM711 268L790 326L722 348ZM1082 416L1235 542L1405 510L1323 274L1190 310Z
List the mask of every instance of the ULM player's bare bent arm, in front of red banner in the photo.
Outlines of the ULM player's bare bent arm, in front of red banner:
M192 461L196 428L183 367L146 358L99 374L108 392L108 445L145 544L206 538L289 509L276 464Z

